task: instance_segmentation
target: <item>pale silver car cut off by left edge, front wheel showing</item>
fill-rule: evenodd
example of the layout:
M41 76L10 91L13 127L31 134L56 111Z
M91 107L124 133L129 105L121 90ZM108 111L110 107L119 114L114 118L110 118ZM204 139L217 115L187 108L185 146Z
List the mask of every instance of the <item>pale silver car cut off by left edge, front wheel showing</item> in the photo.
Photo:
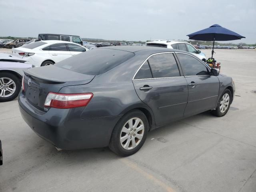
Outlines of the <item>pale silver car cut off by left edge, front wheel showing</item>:
M23 70L34 67L26 60L0 53L0 102L16 98L21 89Z

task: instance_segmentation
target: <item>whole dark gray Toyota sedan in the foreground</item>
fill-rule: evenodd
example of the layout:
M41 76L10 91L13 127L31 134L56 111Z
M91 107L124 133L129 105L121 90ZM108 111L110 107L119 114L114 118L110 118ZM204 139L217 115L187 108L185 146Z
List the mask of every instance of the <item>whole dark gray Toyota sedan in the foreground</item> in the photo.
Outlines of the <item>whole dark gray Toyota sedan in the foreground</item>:
M211 110L224 116L231 77L188 52L146 46L93 49L24 71L18 102L26 123L57 148L137 152L148 131Z

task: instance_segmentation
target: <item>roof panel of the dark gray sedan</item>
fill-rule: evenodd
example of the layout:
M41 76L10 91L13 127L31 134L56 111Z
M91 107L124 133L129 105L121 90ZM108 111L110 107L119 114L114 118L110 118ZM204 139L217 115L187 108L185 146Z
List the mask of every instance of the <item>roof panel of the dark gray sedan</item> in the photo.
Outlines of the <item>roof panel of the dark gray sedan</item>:
M176 49L170 49L170 48L162 48L162 47L152 47L152 46L109 46L109 47L100 47L98 49L113 49L113 50L122 50L122 51L128 51L132 53L144 51L144 52L150 52L150 53L159 53L159 52L184 52L186 51L182 50L176 50ZM166 50L167 49L167 50Z

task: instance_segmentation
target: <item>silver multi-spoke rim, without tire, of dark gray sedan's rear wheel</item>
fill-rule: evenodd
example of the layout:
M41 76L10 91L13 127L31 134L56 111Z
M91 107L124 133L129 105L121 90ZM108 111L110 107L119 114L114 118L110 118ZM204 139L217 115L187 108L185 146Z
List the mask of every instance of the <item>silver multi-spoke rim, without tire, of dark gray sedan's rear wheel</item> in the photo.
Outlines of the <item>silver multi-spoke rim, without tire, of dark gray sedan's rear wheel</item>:
M120 133L121 146L126 150L136 148L144 135L144 124L140 118L128 120Z

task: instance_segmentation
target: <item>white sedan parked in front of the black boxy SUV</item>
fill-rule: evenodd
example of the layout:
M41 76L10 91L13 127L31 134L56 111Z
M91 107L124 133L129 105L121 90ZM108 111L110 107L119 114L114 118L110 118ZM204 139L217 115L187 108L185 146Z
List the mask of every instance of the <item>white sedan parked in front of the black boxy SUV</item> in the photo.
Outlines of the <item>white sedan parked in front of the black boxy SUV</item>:
M88 51L87 48L67 41L38 41L18 48L12 48L12 54L26 58L36 67L52 65L66 58Z

